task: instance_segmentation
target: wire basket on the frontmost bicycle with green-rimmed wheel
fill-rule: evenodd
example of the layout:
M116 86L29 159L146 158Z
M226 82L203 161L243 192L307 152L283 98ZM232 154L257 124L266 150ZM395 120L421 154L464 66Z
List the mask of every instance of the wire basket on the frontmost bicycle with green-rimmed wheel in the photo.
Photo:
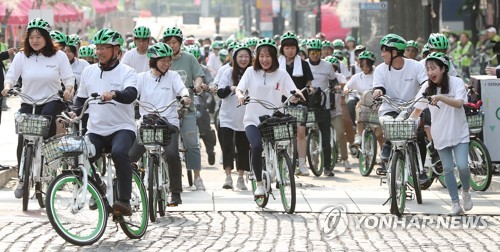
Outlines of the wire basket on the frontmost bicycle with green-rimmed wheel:
M81 155L85 149L83 136L57 135L47 140L42 146L42 153L47 164L63 158Z

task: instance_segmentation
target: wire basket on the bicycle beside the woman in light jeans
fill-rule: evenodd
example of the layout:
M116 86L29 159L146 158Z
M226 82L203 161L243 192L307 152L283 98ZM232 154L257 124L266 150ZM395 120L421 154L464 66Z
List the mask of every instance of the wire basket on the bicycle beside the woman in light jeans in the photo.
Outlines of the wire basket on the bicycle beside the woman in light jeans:
M409 140L417 137L415 121L384 121L382 130L388 141Z

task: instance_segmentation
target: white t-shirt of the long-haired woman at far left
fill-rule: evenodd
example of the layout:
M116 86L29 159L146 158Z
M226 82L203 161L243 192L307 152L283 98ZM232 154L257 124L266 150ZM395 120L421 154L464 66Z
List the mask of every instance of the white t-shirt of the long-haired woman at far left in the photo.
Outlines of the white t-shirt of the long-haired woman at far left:
M4 83L14 85L19 77L23 78L21 92L35 101L43 100L61 90L61 81L65 86L75 85L75 75L71 70L68 57L60 50L52 57L39 54L28 58L23 52L17 53L5 75ZM58 96L50 101L57 99L59 99ZM24 101L24 99L23 103L31 104L30 101Z

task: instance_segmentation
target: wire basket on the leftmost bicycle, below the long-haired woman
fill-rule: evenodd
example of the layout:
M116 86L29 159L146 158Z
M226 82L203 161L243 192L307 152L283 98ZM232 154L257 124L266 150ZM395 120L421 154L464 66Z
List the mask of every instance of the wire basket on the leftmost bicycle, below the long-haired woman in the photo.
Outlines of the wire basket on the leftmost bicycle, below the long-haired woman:
M51 116L21 114L16 118L16 134L43 136L49 134Z

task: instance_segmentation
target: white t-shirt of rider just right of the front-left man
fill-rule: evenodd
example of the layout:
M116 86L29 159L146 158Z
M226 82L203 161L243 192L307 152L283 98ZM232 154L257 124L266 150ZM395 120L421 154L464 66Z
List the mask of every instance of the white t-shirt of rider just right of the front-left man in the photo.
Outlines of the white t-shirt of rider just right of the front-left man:
M189 95L181 76L177 72L168 71L160 78L160 82L157 82L157 79L158 77L152 75L150 71L137 74L138 95L140 96L140 101L145 103L147 107L163 108L175 100L178 95ZM142 107L139 107L139 113L141 117L149 114ZM174 103L160 115L167 118L171 124L179 127L177 103Z

